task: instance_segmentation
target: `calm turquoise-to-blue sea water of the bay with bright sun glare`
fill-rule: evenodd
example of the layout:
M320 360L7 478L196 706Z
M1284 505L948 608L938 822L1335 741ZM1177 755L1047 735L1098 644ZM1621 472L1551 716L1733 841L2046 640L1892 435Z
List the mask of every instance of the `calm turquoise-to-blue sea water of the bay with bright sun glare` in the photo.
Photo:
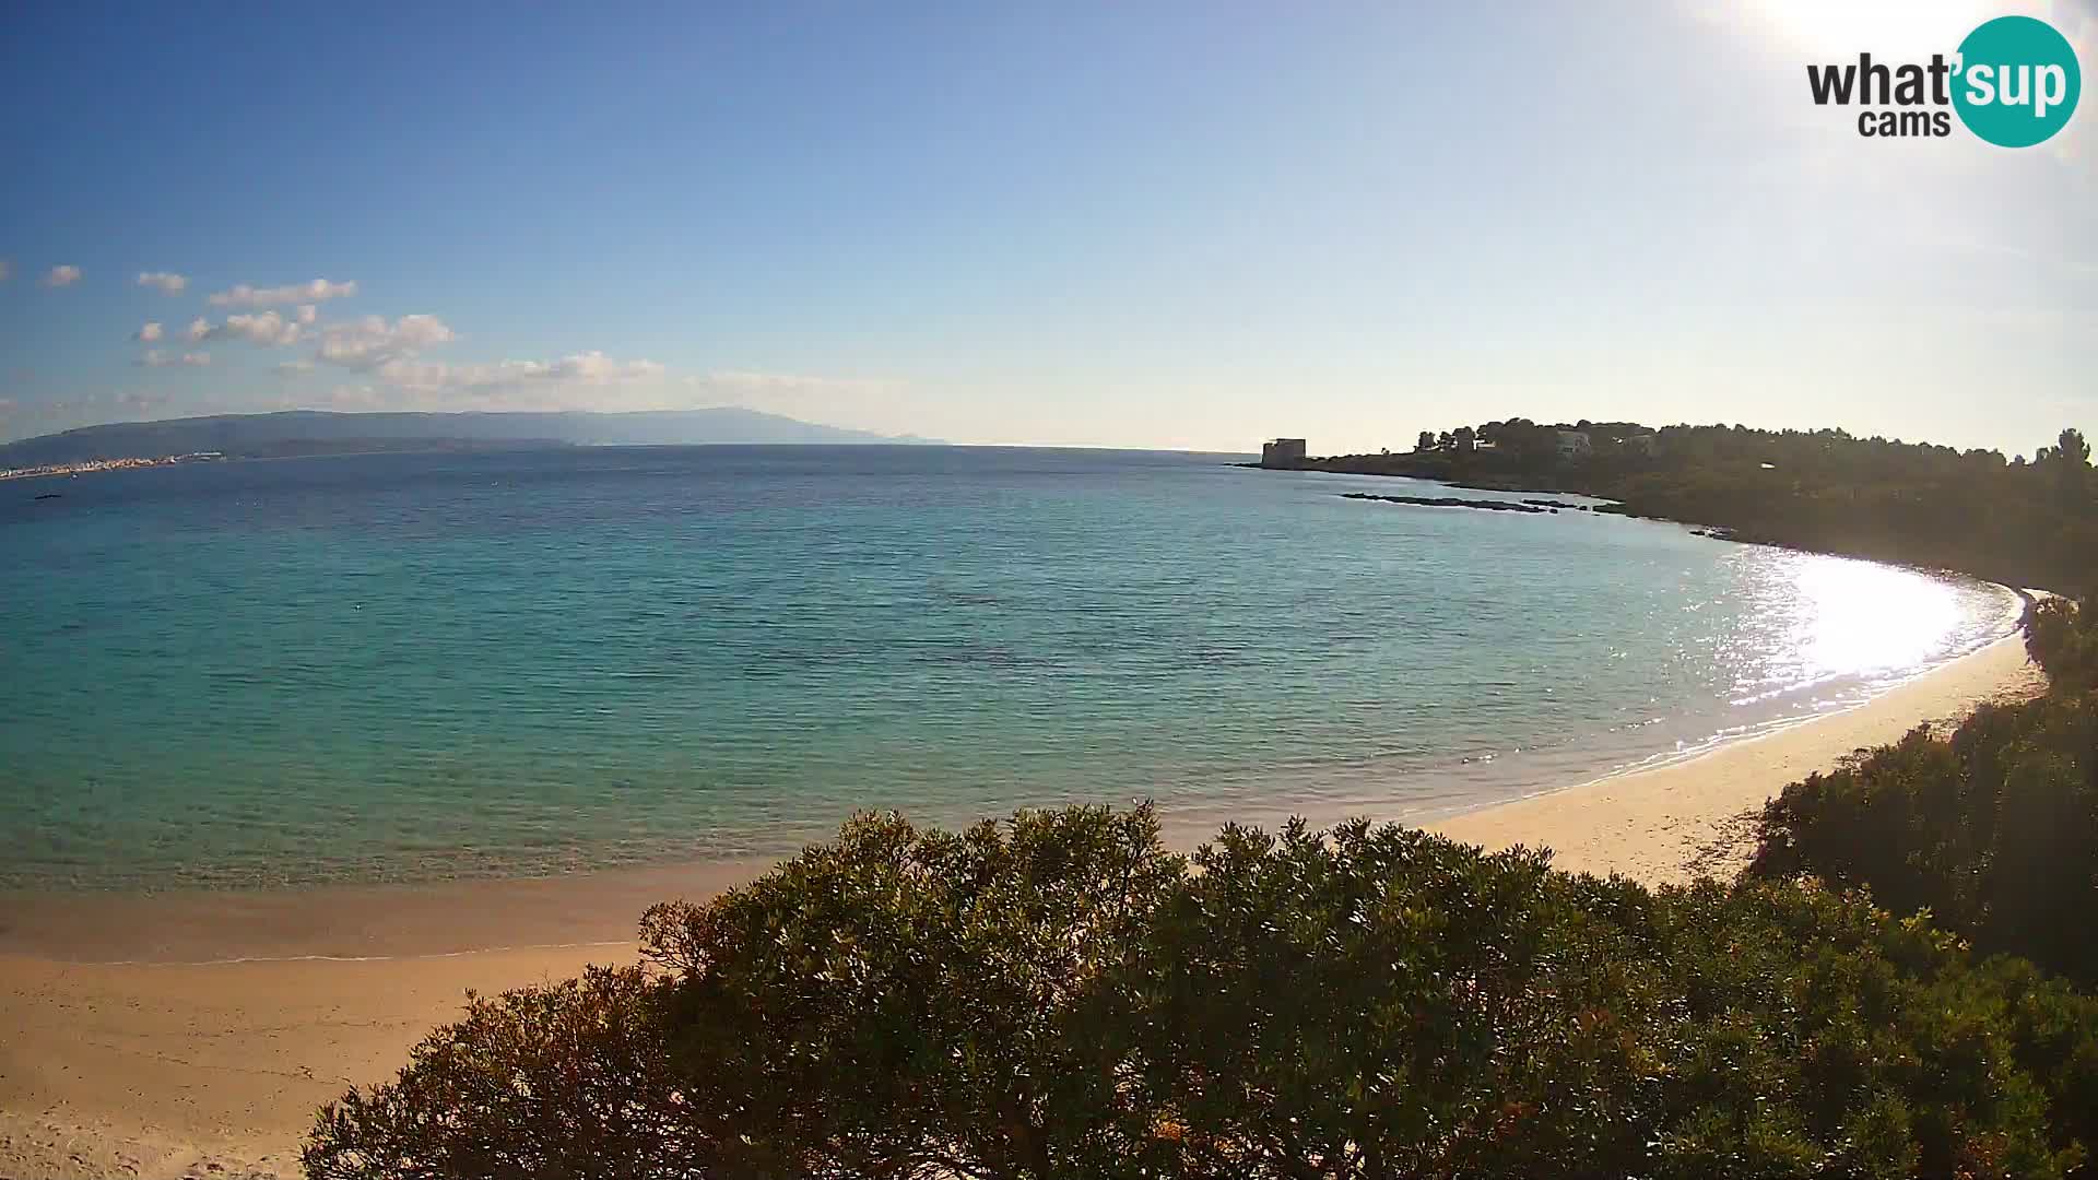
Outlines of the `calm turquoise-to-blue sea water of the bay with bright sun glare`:
M2016 615L1364 487L1427 491L955 447L0 483L0 886L768 855L871 806L1425 817L1853 703Z

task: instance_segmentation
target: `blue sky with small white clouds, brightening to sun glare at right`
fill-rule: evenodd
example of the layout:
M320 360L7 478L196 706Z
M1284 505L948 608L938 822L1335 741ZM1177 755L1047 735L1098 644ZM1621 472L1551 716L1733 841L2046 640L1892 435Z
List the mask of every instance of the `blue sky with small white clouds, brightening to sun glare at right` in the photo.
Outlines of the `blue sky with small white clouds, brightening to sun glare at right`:
M738 403L2031 451L2098 428L2098 111L1867 141L1804 78L2004 13L2098 65L2088 0L15 6L0 437Z

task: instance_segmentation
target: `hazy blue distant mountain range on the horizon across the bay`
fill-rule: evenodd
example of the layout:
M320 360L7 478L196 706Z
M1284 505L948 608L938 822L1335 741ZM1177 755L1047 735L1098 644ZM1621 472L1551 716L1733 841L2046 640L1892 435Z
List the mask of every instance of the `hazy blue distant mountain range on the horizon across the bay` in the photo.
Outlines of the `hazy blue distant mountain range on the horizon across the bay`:
M818 426L741 407L631 414L220 414L166 422L109 422L0 443L0 468L220 451L229 458L489 447L602 447L701 443L932 443Z

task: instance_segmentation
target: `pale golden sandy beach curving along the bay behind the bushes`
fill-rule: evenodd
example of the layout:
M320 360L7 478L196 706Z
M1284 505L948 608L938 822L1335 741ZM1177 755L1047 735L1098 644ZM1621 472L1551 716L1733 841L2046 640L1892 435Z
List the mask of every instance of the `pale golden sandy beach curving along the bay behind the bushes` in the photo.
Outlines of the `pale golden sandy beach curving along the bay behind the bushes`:
M1848 712L1431 827L1655 884L1731 873L1787 781L2037 687L2012 636ZM762 867L331 890L319 924L302 894L0 905L0 1180L296 1176L315 1109L390 1075L464 991L629 960L650 901Z

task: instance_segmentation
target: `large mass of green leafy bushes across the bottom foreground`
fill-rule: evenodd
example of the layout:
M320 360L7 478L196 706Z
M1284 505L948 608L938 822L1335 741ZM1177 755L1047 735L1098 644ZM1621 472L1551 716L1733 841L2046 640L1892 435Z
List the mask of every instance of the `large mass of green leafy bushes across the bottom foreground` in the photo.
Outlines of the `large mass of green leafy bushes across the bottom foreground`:
M2098 1008L1790 884L1399 827L860 817L480 1002L317 1125L378 1176L2058 1176Z

